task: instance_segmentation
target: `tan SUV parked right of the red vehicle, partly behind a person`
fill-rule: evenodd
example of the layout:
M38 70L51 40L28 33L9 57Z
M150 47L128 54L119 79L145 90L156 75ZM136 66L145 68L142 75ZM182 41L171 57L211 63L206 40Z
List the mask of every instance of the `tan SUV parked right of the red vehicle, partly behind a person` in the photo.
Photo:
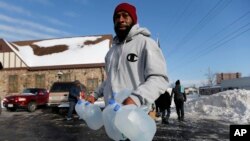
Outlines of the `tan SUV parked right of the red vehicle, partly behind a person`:
M67 108L69 107L68 96L70 88L75 85L74 82L55 82L50 88L49 91L49 107L59 107L59 108ZM87 93L86 87L81 84L82 92L81 98L85 99L85 94Z

